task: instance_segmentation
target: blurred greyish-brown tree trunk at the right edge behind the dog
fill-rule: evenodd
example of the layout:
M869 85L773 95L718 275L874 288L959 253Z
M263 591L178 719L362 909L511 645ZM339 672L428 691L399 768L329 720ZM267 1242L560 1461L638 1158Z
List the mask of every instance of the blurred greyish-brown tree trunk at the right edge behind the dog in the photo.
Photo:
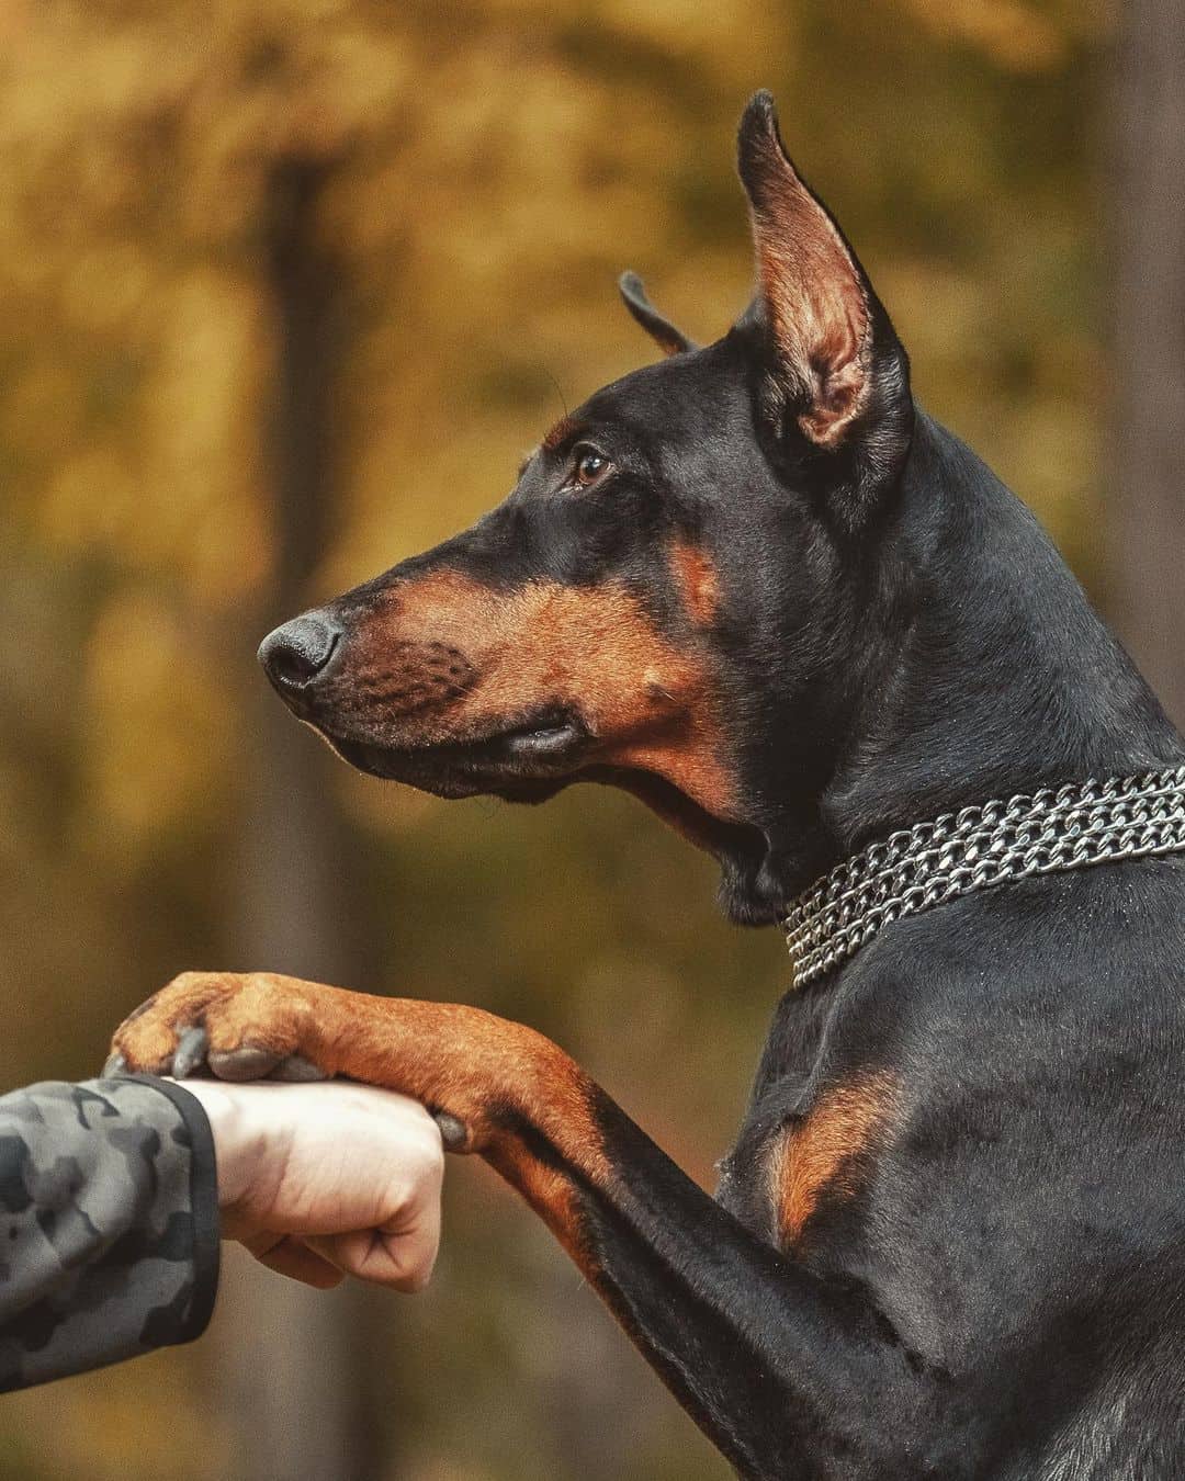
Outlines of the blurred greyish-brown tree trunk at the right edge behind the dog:
M1111 613L1185 724L1185 0L1120 7Z

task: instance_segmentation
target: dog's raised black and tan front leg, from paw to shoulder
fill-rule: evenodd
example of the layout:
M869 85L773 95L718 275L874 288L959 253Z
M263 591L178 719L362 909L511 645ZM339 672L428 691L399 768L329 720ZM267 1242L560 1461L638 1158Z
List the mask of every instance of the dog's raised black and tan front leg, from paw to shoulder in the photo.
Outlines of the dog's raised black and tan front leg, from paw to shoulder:
M413 1096L554 1229L747 1477L930 1474L923 1379L850 1291L757 1240L555 1044L478 1009L270 973L187 973L117 1031L130 1069L227 1078L311 1062ZM181 1062L178 1062L178 1056Z

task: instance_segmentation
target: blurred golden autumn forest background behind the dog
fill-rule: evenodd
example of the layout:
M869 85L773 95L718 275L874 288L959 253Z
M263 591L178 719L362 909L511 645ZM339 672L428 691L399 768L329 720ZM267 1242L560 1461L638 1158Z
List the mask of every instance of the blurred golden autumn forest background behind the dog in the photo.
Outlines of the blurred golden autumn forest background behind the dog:
M1185 711L1182 0L0 0L0 1084L175 972L478 1003L698 1177L785 985L637 804L438 804L268 693L273 621L470 523L561 409L744 307L755 86L920 397ZM194 1348L15 1395L19 1481L726 1468L450 1163L415 1300L227 1260Z

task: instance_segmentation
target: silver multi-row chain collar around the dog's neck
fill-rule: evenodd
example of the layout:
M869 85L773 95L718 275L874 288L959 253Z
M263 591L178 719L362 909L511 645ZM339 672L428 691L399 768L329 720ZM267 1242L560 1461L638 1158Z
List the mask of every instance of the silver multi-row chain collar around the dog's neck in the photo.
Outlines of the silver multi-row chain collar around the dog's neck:
M787 915L794 986L905 915L972 890L1117 859L1185 853L1185 766L964 807L890 834L825 874Z

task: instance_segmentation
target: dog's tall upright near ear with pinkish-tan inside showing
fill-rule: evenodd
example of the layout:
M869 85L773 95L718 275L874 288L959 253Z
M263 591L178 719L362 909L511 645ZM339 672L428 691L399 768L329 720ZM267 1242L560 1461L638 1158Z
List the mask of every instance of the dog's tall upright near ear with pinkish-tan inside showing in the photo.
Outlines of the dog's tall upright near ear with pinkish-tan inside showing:
M908 360L838 225L795 170L773 98L741 120L738 166L757 252L757 317L769 336L772 406L821 449L840 450L908 403ZM859 429L858 429L859 427ZM908 441L908 431L907 431Z

